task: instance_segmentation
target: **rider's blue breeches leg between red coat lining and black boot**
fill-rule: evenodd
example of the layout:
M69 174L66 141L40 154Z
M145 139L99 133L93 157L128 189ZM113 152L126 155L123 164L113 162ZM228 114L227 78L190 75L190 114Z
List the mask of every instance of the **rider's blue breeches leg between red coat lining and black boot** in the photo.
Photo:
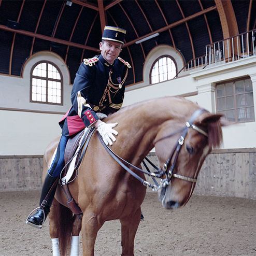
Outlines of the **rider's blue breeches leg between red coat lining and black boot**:
M48 170L48 174L52 177L58 177L65 165L64 153L67 145L67 140L68 140L68 137L64 135L61 136L61 139L57 148L57 152L55 154L55 158L51 164L50 169Z

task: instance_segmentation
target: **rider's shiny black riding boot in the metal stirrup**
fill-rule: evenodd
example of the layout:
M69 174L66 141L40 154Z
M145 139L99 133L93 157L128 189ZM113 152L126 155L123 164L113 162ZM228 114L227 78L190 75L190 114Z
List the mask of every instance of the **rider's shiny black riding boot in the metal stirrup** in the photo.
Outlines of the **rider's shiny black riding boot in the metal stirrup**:
M53 183L55 182L56 177L52 177L50 176L48 173L46 175L45 178L45 182L42 185L42 192L41 192L41 197L40 197L40 203L39 203L39 207L41 206L42 202L45 200L48 192L50 191ZM44 223L47 215L50 212L50 207L54 198L54 194L56 191L56 186L55 188L52 190L47 203L45 204L44 209L37 209L36 213L32 216L29 216L26 220L26 224L32 225L34 227L37 227L38 229L41 229L42 224Z

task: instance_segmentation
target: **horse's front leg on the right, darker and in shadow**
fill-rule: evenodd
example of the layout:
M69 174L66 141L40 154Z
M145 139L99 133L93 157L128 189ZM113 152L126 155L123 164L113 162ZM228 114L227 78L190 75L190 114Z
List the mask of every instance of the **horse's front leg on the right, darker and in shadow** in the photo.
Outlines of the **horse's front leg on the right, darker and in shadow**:
M120 219L122 233L122 256L134 255L134 238L140 221L140 208L128 218Z

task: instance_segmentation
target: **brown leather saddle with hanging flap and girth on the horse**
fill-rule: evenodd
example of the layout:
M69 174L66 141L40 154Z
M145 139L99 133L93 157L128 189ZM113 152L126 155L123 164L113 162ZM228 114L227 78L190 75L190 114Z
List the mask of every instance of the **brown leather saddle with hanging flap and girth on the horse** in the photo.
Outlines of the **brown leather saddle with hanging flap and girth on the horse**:
M68 207L75 215L82 215L82 211L70 194L68 183L76 179L78 167L83 159L84 154L86 153L90 138L94 131L95 128L92 127L86 130L82 130L73 136L70 136L65 149L65 167L62 170L60 180L62 189L67 197ZM70 180L74 172L76 172L75 178Z

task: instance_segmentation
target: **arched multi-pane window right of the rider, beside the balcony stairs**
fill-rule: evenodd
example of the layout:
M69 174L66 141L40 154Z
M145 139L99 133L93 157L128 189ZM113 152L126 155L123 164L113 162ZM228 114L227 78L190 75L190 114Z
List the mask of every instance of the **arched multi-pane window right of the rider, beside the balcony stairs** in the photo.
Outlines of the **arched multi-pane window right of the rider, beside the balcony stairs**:
M159 83L173 79L177 74L177 64L169 55L160 56L150 70L150 83Z

